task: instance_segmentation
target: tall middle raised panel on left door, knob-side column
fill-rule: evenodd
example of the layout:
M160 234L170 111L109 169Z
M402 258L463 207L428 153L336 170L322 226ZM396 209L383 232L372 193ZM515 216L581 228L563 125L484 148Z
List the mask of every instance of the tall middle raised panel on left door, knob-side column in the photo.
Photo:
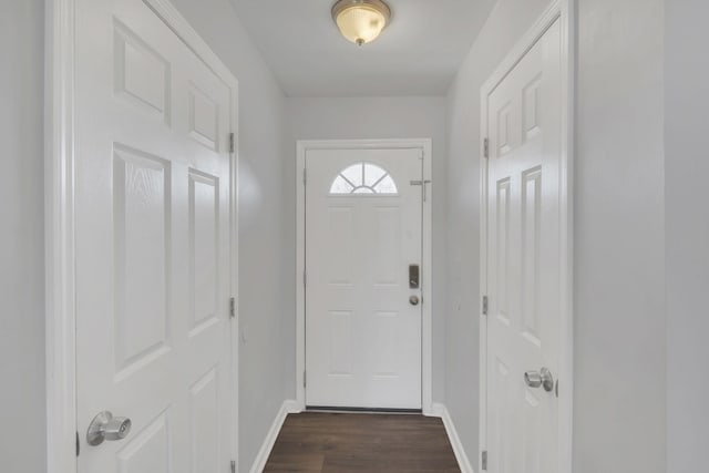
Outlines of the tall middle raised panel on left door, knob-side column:
M169 348L171 165L115 145L113 173L113 333L116 370L123 371Z

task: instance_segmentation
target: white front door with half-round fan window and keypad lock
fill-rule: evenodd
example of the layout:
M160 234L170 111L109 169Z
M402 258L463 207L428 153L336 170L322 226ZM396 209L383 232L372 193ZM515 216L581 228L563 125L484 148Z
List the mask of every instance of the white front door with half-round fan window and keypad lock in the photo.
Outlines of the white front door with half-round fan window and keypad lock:
M307 152L308 407L421 409L422 164L421 150Z

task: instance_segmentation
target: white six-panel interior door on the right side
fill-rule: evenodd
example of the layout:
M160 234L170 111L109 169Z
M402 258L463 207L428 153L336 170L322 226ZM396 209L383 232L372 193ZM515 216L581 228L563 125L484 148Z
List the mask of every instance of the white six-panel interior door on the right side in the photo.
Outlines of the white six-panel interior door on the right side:
M561 29L489 95L487 471L555 473L558 402ZM525 373L527 377L525 378ZM548 391L547 391L548 389Z

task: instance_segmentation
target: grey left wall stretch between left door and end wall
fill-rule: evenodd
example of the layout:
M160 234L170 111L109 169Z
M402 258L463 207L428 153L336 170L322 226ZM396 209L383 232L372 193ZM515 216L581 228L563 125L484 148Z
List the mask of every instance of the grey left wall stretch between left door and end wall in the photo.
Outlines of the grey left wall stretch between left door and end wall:
M173 0L239 81L239 470L248 471L284 401L280 278L286 241L284 94L228 0ZM289 181L289 179L286 179ZM288 214L289 215L289 214ZM287 307L287 308L286 308Z

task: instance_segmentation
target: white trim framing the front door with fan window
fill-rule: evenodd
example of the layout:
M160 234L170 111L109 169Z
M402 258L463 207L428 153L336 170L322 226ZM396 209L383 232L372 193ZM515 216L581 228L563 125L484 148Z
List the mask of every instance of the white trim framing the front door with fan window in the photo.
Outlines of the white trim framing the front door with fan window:
M304 171L308 150L397 150L418 148L423 151L423 179L432 181L432 143L430 138L415 140L325 140L298 141L296 165L296 405L306 408L306 388L304 372L306 368L306 291L304 274L306 269L305 245L305 208L306 193ZM429 185L427 200L423 205L423 254L422 254L422 325L421 325L421 409L425 415L433 414L432 400L432 208L435 183Z

